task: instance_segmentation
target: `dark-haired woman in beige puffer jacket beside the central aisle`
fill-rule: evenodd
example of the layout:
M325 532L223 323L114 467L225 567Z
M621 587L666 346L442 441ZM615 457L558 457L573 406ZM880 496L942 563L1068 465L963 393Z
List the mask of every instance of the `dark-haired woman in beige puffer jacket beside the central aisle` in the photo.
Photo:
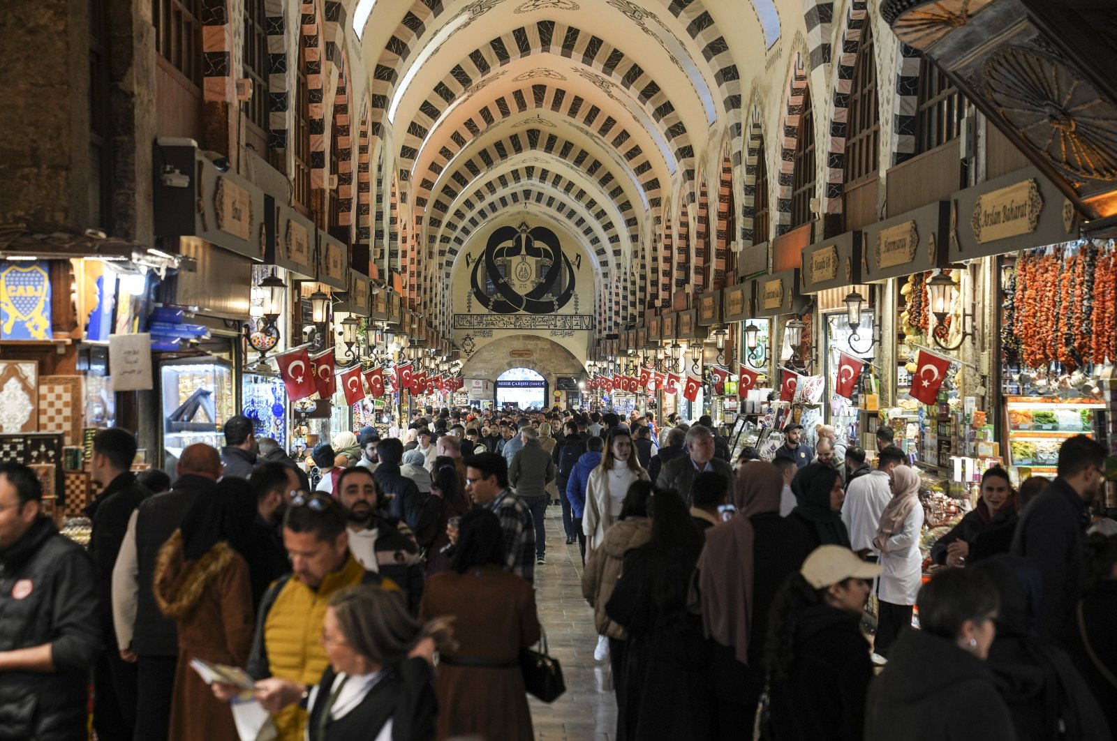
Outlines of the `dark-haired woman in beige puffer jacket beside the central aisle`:
M593 657L602 661L609 655L613 670L613 689L617 692L617 708L623 714L624 696L619 681L624 667L624 628L609 619L605 605L613 594L617 580L621 578L624 554L648 542L651 520L648 519L648 500L651 499L651 482L638 480L629 487L624 504L613 527L605 533L601 548L593 555L582 572L582 596L593 607L593 625L598 629L598 647Z

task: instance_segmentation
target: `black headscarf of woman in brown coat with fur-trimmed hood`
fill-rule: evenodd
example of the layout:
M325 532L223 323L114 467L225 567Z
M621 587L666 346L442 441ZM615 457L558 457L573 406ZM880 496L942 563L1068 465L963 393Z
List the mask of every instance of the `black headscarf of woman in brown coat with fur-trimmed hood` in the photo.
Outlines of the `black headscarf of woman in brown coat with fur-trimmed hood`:
M182 555L192 561L225 540L251 562L256 492L244 479L222 479L198 495L182 520Z

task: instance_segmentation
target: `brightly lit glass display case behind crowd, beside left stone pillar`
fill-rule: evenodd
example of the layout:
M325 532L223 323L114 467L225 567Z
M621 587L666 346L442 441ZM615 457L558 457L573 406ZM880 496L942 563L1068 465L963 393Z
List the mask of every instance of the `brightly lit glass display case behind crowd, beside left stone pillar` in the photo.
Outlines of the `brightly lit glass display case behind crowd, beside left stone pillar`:
M225 445L222 426L233 415L232 366L216 357L160 365L163 454L178 458L194 443Z

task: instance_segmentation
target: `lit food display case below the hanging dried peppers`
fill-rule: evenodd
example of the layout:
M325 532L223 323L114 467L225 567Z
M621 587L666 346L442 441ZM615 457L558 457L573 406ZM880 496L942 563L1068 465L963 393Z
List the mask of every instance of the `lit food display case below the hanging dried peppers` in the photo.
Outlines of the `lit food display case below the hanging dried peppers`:
M1021 479L1052 475L1062 441L1073 435L1092 437L1095 410L1105 408L1092 398L1006 396L1004 401L1006 460Z

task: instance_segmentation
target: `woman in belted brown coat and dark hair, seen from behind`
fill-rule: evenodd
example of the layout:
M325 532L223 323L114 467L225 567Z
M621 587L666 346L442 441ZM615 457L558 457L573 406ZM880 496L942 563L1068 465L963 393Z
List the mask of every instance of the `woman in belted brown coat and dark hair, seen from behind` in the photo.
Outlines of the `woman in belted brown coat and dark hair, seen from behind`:
M540 639L535 593L505 574L500 522L475 509L458 526L452 570L427 581L419 622L454 616L458 649L442 653L435 691L438 739L532 741L519 649Z

